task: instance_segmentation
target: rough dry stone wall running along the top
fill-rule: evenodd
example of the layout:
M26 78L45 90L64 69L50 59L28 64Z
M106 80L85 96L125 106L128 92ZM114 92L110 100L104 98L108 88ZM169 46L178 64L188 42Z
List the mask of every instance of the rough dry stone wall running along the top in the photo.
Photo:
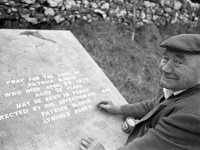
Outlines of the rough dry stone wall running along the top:
M109 20L134 27L200 25L200 4L189 0L1 0L0 19L31 24Z

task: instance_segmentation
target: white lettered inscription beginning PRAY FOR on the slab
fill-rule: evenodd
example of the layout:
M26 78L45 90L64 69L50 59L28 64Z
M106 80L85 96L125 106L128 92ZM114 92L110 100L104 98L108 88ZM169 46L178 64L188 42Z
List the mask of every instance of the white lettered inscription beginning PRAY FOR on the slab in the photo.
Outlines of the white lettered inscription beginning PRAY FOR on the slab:
M5 86L21 85L24 88L5 92L4 100L9 101L13 97L27 100L14 103L16 110L2 113L0 121L37 113L47 124L91 110L97 93L87 84L90 84L89 77L82 76L80 71L8 80ZM101 90L101 93L107 92L110 89Z

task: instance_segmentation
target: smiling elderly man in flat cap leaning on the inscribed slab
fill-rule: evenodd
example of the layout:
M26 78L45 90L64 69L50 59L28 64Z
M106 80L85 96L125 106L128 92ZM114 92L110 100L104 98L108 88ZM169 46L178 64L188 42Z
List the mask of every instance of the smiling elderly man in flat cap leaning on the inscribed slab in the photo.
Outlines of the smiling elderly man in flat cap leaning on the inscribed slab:
M152 101L123 106L101 102L112 114L140 119L119 150L200 150L200 35L180 34L160 44L163 92ZM81 150L104 150L82 138Z

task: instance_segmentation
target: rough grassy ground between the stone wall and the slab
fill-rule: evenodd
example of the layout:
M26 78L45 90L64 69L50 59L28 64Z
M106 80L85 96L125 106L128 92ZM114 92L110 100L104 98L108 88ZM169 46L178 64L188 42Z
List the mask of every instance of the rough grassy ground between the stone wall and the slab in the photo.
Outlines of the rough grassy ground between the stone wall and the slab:
M6 28L34 28L71 30L85 49L114 83L124 98L130 102L151 99L159 89L158 65L162 49L159 43L179 33L200 33L200 28L154 25L137 29L133 40L133 28L101 21L94 23L45 24L18 27L7 23Z

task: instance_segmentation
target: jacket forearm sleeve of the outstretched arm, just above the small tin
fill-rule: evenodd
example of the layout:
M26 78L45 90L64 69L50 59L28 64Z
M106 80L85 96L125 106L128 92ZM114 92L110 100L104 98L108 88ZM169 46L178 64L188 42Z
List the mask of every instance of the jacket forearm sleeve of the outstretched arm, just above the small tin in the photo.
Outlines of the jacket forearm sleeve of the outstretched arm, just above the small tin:
M154 107L153 100L147 100L144 102L138 102L135 104L126 104L121 106L122 116L133 117L135 119L141 119Z

